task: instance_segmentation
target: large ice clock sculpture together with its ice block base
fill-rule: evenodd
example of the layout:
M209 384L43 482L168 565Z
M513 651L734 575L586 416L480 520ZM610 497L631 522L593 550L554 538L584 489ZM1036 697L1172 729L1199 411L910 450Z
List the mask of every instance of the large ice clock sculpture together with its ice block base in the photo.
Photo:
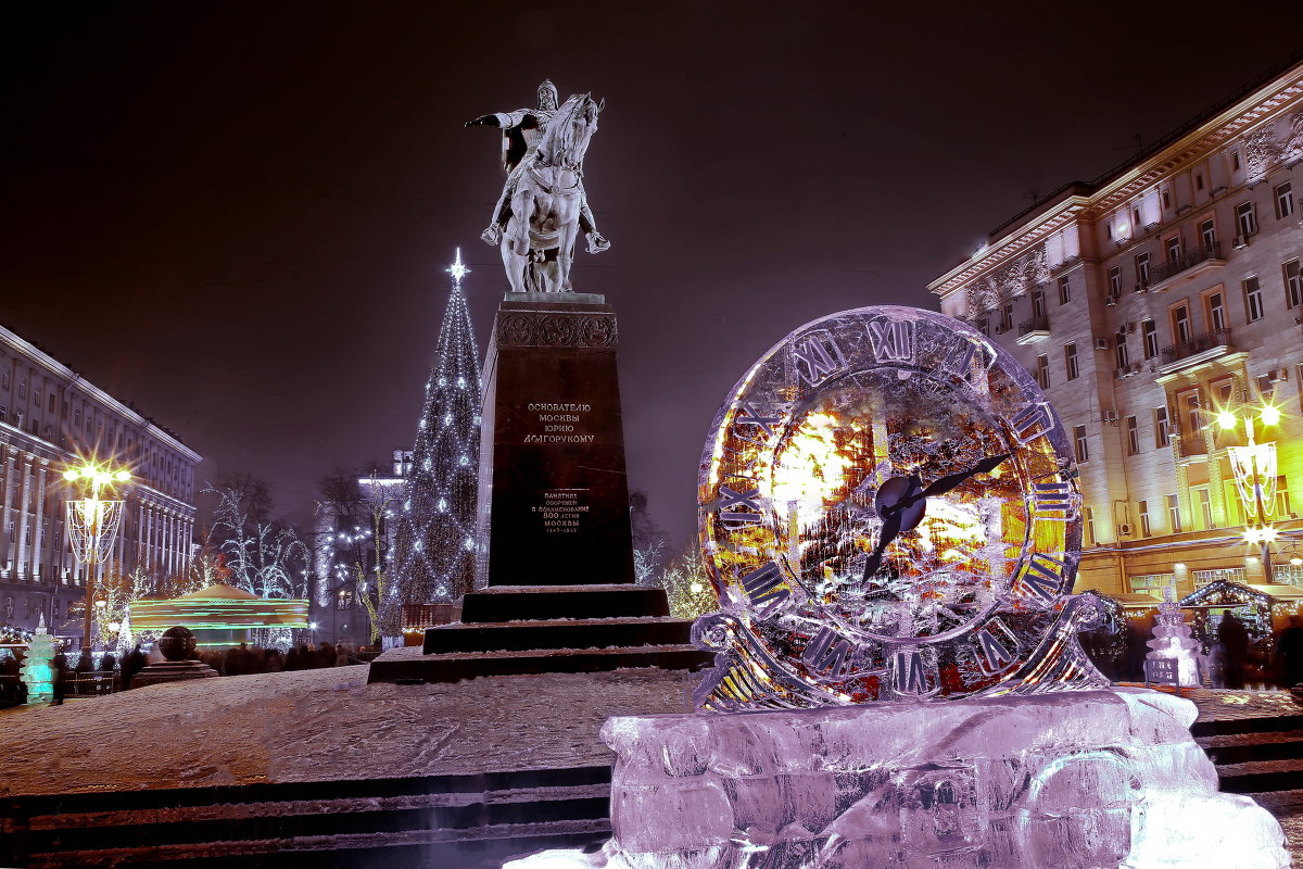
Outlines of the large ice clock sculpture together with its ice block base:
M809 323L739 380L701 463L721 611L696 714L616 717L614 835L516 864L741 869L1289 865L1218 793L1187 700L1076 636L1068 438L1027 371L908 307Z

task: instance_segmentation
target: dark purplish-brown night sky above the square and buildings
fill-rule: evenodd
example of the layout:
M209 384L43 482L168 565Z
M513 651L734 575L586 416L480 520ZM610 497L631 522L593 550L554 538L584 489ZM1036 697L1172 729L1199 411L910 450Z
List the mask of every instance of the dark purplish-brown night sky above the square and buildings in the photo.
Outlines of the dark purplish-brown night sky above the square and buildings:
M300 517L336 464L410 448L457 246L483 350L504 176L463 122L545 77L605 98L612 248L573 281L619 315L631 486L676 543L715 409L787 331L934 309L924 284L1035 194L1300 47L1294 3L23 5L0 322Z

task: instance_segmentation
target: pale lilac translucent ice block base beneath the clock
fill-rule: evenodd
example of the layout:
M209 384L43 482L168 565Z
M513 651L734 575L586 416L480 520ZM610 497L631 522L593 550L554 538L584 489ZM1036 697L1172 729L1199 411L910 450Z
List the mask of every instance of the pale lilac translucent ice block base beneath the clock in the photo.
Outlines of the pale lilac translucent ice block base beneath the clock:
M1289 865L1217 792L1194 704L1140 689L611 718L614 836L512 869Z

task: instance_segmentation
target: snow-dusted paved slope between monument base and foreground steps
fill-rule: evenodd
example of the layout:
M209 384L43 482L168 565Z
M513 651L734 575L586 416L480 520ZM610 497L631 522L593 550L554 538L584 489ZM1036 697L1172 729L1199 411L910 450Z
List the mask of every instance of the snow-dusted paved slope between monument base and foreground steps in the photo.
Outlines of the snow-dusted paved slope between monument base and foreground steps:
M417 650L420 651L420 650ZM681 672L366 684L366 667L151 685L0 718L0 795L562 769L611 715L681 713Z

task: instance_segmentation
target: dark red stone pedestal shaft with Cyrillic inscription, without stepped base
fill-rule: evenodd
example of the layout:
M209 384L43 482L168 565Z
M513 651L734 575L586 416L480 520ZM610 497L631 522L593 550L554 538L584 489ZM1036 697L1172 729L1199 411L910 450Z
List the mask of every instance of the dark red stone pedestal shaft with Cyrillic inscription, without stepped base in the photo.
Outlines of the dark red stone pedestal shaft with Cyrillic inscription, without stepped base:
M480 469L487 585L633 581L615 315L594 301L498 310Z

